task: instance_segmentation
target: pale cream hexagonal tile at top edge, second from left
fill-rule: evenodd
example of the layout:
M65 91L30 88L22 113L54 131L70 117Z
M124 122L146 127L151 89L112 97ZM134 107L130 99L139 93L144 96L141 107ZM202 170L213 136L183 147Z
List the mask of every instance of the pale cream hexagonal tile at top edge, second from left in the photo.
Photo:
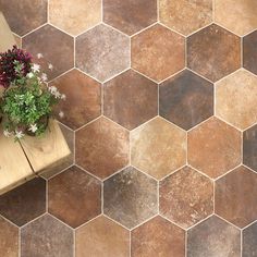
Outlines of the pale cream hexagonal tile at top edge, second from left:
M49 22L75 36L101 22L101 1L51 0Z

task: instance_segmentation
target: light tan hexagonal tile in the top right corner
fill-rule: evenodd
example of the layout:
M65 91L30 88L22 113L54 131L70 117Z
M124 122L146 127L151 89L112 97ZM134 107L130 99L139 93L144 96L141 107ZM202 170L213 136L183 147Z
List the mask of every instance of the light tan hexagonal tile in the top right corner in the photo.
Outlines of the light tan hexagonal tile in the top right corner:
M215 1L215 21L240 36L257 28L256 13L255 0Z

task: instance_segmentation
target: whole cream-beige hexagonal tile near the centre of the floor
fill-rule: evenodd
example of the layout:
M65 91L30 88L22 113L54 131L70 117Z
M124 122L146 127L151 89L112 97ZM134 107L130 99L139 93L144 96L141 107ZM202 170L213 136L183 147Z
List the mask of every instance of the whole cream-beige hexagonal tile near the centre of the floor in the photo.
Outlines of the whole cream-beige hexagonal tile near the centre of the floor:
M131 162L156 179L186 163L186 133L161 118L131 134Z

